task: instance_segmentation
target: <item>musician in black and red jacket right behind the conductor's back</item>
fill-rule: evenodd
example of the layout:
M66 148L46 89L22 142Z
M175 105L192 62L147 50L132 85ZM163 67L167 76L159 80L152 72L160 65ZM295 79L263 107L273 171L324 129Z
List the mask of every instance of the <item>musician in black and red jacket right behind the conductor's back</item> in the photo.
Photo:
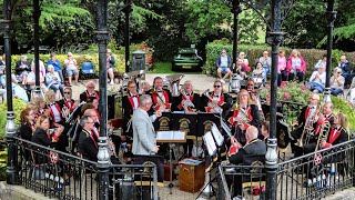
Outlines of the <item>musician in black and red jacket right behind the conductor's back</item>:
M133 130L131 118L133 111L140 106L140 96L136 90L135 81L129 81L128 83L128 96L122 98L122 107L123 107L123 132L122 138L126 141L126 143L132 144L133 141ZM131 161L132 152L125 152L124 157L128 158L128 162Z

